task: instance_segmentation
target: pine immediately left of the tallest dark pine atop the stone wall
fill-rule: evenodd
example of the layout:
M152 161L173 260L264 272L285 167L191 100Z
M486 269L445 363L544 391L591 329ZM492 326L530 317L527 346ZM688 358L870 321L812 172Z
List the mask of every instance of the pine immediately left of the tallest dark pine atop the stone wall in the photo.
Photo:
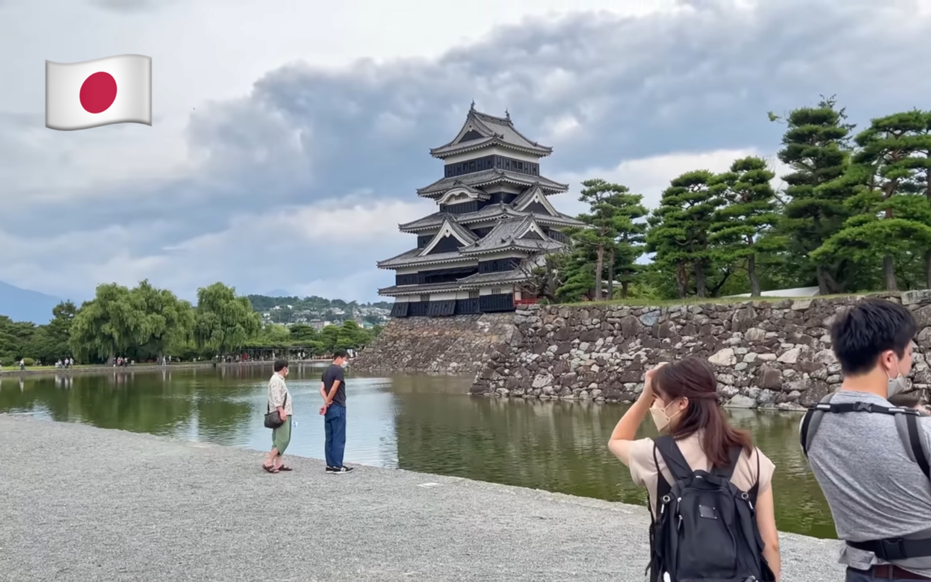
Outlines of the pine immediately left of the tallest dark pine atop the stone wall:
M714 258L723 264L743 264L750 282L750 295L759 297L757 258L782 248L783 237L772 234L779 221L776 192L770 185L776 174L759 157L738 159L731 171L715 177L711 190L723 205L714 213L709 239Z

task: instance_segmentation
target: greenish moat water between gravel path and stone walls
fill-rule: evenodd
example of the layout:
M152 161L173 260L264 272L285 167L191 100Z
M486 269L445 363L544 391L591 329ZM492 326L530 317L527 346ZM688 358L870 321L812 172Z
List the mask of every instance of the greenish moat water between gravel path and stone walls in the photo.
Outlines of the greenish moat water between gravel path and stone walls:
M322 456L320 369L293 367L289 453ZM260 367L0 376L0 413L266 450ZM485 480L610 501L645 503L606 449L618 404L466 395L471 378L395 375L347 378L346 461ZM794 413L729 411L776 463L782 531L834 537L830 511L798 445ZM652 433L644 432L644 436Z

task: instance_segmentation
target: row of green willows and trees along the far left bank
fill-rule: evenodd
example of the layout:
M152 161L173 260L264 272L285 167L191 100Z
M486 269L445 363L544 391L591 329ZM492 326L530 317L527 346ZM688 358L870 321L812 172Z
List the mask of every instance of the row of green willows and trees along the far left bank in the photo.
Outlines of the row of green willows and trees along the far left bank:
M86 363L116 356L209 359L242 347L304 348L322 356L336 348L360 349L382 332L380 326L367 330L351 320L321 332L307 324L263 327L249 299L223 283L197 290L197 300L194 308L143 280L131 290L100 285L94 299L80 308L71 302L56 305L47 325L0 316L0 363L26 358L52 364L69 356Z

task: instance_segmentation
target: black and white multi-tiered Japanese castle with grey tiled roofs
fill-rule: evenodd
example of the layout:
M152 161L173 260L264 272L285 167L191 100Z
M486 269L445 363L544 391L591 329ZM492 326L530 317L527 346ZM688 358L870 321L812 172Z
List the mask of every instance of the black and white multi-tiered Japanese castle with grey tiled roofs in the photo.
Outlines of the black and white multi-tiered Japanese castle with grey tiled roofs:
M569 188L540 175L540 158L552 151L524 137L509 114L479 113L472 103L452 142L430 150L445 162L443 177L417 190L439 209L398 225L417 235L417 247L378 263L396 273L395 285L378 291L395 298L393 317L513 311L535 300L521 283L563 248L562 229L582 225L547 199Z

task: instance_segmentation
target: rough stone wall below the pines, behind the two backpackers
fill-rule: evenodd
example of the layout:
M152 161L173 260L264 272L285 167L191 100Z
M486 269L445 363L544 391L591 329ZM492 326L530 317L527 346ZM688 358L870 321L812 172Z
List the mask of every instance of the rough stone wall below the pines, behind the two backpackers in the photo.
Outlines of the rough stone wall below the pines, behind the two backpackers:
M908 305L921 332L915 389L931 384L931 291L874 295ZM672 307L530 305L518 332L495 345L473 394L632 401L662 361L708 358L729 406L801 410L841 383L830 350L836 314L859 298L747 301Z

